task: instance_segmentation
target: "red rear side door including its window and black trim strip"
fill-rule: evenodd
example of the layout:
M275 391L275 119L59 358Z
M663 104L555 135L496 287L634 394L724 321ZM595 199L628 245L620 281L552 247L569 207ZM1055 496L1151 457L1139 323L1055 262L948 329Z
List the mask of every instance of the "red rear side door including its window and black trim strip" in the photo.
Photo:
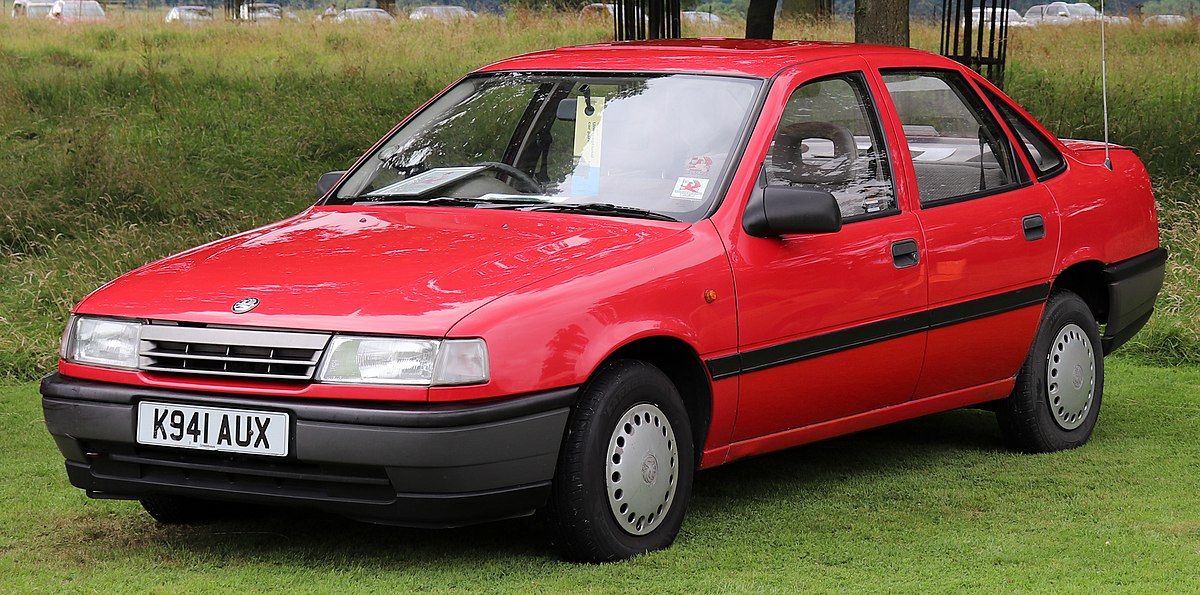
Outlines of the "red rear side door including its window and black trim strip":
M1054 198L962 73L881 61L929 263L930 331L914 398L1000 383L1025 359L1050 288Z

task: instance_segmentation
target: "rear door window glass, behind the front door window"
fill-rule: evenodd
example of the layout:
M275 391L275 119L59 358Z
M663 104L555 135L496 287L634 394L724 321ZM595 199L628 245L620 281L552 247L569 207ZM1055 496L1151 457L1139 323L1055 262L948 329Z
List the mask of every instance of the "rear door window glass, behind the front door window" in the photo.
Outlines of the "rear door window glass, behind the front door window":
M884 71L904 125L920 204L991 194L1021 182L1000 124L961 76Z

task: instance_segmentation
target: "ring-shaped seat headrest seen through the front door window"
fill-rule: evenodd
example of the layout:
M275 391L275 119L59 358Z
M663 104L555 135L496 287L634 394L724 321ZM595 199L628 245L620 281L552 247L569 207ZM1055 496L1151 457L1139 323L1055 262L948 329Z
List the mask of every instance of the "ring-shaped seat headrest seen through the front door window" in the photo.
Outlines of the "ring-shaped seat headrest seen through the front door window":
M805 163L803 143L822 138L833 143L833 158L823 163ZM839 184L853 179L858 145L850 128L832 122L797 122L775 133L772 163L784 169L782 178L797 184Z

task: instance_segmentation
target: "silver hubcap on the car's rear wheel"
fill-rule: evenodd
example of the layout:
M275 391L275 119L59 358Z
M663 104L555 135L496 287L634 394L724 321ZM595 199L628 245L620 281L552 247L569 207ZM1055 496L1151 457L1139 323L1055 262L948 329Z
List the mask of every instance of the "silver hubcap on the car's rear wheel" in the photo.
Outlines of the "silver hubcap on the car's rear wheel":
M1078 324L1063 326L1046 355L1046 399L1054 421L1075 429L1092 408L1096 395L1096 353Z

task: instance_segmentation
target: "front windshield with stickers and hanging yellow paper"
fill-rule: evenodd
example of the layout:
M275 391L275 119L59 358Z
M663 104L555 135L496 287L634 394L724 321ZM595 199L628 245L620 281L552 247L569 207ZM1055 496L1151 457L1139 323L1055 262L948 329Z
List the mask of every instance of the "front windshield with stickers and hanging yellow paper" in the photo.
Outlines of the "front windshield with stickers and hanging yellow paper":
M330 203L599 203L698 221L760 88L690 74L470 77L386 139Z

